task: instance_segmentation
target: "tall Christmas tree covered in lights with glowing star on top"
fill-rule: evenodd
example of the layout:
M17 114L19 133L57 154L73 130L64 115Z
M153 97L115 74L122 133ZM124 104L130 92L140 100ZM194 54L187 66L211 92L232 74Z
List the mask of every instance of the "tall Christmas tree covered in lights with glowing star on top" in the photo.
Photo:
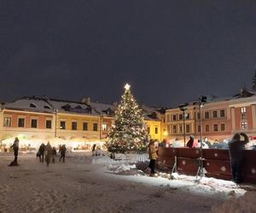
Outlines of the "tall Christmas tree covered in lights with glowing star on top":
M148 141L143 124L143 112L131 95L130 85L125 84L125 94L115 112L112 129L108 134L107 147L111 153L142 151Z

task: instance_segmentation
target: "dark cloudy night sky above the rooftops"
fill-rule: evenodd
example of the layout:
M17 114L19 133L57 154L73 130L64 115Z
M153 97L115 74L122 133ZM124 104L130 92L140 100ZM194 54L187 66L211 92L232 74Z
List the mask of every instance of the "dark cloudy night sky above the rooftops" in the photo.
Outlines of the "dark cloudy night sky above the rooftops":
M252 87L256 1L0 1L0 101L24 95L170 107Z

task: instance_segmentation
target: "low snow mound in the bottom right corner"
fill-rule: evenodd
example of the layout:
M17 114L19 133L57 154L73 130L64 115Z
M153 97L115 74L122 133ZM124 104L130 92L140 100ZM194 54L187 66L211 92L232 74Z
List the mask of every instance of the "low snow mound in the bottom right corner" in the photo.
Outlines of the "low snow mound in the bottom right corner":
M212 207L212 213L256 212L256 192L247 192L237 199L228 199L223 204Z

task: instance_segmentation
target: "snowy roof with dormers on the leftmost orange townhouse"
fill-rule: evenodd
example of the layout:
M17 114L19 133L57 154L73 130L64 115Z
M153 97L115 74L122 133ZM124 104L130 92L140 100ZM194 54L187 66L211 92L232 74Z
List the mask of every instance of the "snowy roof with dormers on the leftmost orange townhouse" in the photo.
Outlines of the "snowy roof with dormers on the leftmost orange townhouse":
M31 112L54 112L54 108L49 105L48 101L38 97L22 97L16 101L4 104L3 108Z

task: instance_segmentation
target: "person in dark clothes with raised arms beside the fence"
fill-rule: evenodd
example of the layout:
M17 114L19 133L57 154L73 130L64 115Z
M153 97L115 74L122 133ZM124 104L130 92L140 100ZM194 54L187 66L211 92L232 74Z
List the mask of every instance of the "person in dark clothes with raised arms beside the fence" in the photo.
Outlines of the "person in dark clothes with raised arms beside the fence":
M243 150L245 150L245 145L247 144L248 141L248 136L245 133L241 132L236 133L233 136L232 140L229 142L232 180L236 183L240 183L242 181L241 168L245 160Z

